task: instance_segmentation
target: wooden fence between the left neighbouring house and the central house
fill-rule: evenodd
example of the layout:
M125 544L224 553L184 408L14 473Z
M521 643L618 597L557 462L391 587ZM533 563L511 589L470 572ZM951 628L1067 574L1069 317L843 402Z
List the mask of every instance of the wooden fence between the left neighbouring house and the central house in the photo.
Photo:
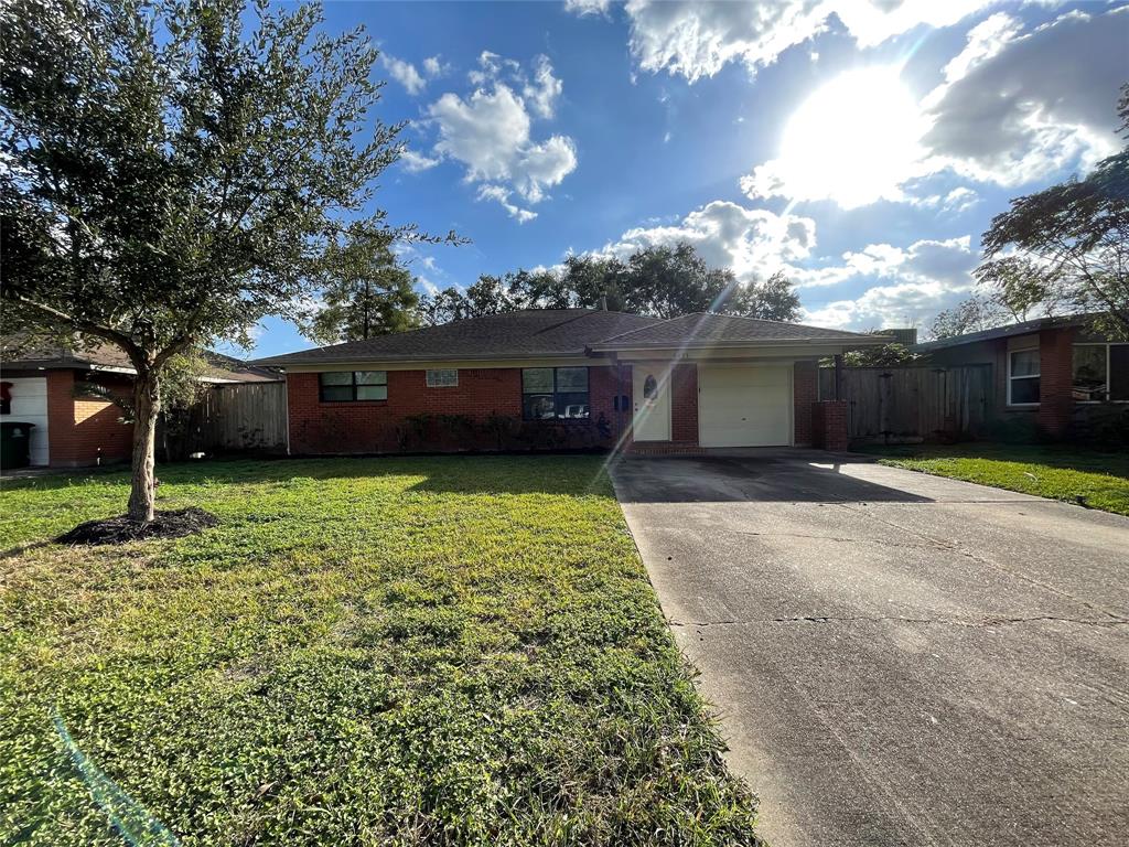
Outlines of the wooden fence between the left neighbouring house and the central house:
M286 452L286 383L235 383L210 388L170 433L176 452ZM176 429L174 427L173 429Z

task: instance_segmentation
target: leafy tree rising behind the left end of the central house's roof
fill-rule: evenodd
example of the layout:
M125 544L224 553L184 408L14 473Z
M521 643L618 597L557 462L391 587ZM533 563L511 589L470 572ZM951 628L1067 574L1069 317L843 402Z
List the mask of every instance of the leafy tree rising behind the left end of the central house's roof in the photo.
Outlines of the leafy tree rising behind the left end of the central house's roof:
M360 341L417 325L415 278L397 262L386 235L349 235L330 245L325 265L321 297L299 324L315 343Z

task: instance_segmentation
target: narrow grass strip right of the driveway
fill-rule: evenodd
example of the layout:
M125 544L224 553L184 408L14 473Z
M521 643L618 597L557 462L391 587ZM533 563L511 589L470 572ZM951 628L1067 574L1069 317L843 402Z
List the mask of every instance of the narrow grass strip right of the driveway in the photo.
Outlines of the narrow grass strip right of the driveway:
M882 464L1129 515L1129 453L1059 445L870 447Z

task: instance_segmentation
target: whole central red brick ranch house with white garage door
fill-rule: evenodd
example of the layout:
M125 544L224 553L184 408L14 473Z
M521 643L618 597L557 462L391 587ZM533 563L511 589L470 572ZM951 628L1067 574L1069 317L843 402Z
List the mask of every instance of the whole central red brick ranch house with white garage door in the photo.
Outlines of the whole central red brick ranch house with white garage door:
M822 357L885 339L693 314L527 309L252 363L286 370L292 455L846 448Z

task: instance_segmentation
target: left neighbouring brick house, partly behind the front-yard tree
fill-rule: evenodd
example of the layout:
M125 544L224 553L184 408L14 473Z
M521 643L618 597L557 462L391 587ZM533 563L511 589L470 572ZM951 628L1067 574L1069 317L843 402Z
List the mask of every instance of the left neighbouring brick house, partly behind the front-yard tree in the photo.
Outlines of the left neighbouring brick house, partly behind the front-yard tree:
M122 410L97 395L77 391L100 385L129 396L134 370L125 353L108 344L82 350L50 347L9 356L5 340L0 369L0 421L34 424L30 464L79 468L129 461L133 427L122 424ZM236 359L208 353L203 377L212 384L277 382L277 373L243 366Z

